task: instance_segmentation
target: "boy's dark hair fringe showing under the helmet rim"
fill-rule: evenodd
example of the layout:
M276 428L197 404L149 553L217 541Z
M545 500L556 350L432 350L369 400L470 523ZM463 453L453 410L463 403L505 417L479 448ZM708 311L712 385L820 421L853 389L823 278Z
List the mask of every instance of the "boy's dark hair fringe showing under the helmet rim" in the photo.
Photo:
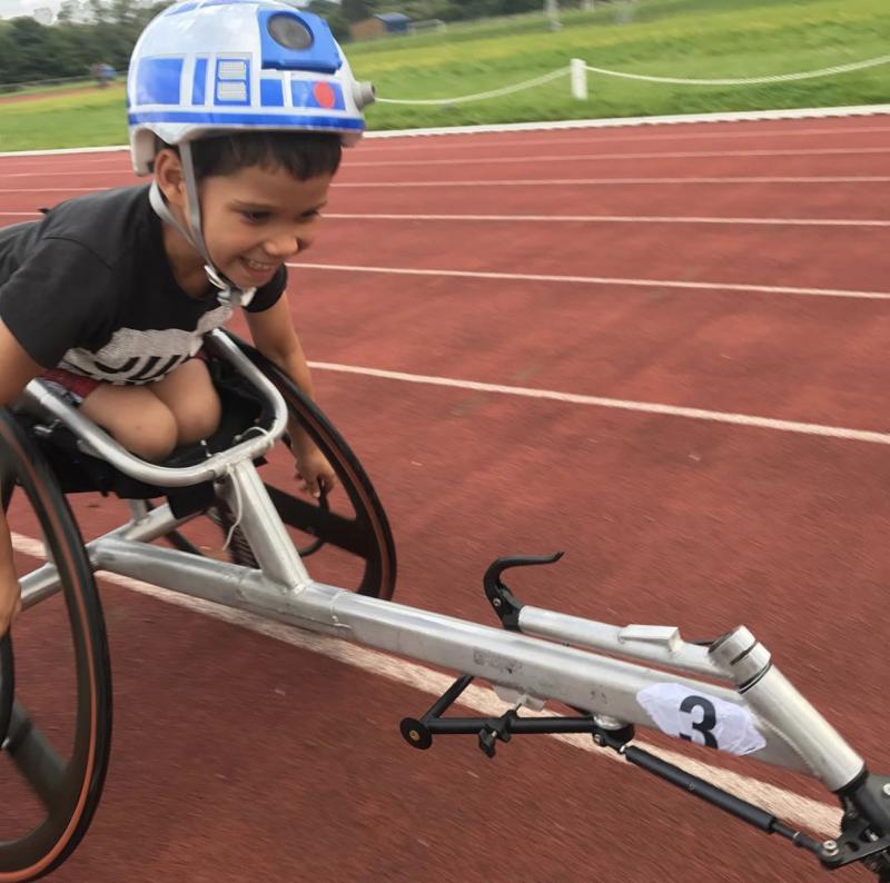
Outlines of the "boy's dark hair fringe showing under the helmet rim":
M328 132L237 132L191 142L191 160L198 182L214 175L231 175L249 166L284 169L297 180L306 181L317 175L334 175L342 153L339 136Z

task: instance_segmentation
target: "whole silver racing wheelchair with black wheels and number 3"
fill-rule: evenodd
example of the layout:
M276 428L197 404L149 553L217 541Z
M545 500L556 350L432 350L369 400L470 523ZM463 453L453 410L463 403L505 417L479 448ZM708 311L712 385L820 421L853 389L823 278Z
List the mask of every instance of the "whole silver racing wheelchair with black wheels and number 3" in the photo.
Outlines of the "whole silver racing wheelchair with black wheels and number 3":
M0 883L57 869L99 804L111 676L96 571L458 672L424 714L400 722L415 748L429 748L436 736L469 734L492 757L515 735L590 734L629 763L787 839L825 869L861 863L890 883L890 777L867 770L744 626L689 643L675 627L620 627L523 604L504 582L512 567L558 555L491 565L483 584L500 627L390 602L393 537L345 442L237 337L214 331L207 350L224 403L221 425L161 465L125 450L39 380L0 411L0 499L11 529L22 524L42 536L30 546L21 537L13 543L23 614L0 642ZM337 473L336 505L324 496L309 503L276 483L276 457L293 421ZM127 500L129 520L85 542L67 499L85 492ZM225 537L225 556L208 554L208 532ZM330 583L308 571L324 555ZM31 633L40 639L29 644ZM28 653L20 649L22 636ZM34 688L33 671L48 665L58 673L51 688ZM500 717L446 715L474 678L491 683L512 707ZM574 714L521 714L547 701ZM636 726L818 778L841 804L841 830L820 841L794 829L634 745Z

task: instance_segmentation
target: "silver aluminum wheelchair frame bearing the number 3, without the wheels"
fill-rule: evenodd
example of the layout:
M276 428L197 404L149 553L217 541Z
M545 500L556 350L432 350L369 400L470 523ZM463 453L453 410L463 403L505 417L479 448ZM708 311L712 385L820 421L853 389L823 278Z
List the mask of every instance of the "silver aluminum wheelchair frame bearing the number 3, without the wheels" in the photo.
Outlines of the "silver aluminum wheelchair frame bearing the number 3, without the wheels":
M128 524L87 544L93 571L136 577L461 673L426 714L402 722L403 735L415 747L428 747L435 734L475 733L479 746L491 756L496 743L507 742L512 735L590 733L597 744L614 748L631 763L768 833L791 840L813 853L824 867L863 862L880 880L890 881L890 778L868 772L862 758L798 693L772 664L770 653L743 626L710 646L701 646L684 642L674 627L620 627L523 605L501 579L511 566L555 558L503 558L492 565L485 592L501 619L500 628L315 582L294 549L254 465L285 431L285 403L276 386L231 339L220 333L214 333L212 338L218 357L260 390L274 417L267 431L250 435L197 465L170 468L138 459L37 381L28 386L26 396L31 409L76 434L85 450L136 480L169 488L212 482L237 515L258 566L227 564L149 545L188 518L177 518L169 505L149 509L136 500L130 503ZM21 578L24 608L62 587L63 576L55 560L50 556ZM474 677L494 685L500 695L510 697L514 708L500 718L444 716ZM695 738L721 747L713 735L718 718L732 708L741 710L761 737L761 747L750 752L752 757L812 775L839 797L844 816L837 839L819 842L632 745L634 726L655 726L639 697L641 691L657 685L675 685L685 696L683 708L678 711L686 713L689 731L673 735L686 741ZM540 708L547 700L570 706L576 716L520 714L523 706ZM30 875L6 872L2 852L0 844L0 881L40 875L33 867L28 871Z

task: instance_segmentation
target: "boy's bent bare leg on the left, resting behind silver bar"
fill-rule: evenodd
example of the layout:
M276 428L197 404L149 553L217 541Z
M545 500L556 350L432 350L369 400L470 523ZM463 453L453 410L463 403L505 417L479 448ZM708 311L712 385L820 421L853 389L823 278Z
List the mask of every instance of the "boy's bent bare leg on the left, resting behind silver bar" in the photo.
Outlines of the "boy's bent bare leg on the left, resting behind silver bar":
M162 460L176 447L172 411L145 386L99 384L80 410L142 459Z

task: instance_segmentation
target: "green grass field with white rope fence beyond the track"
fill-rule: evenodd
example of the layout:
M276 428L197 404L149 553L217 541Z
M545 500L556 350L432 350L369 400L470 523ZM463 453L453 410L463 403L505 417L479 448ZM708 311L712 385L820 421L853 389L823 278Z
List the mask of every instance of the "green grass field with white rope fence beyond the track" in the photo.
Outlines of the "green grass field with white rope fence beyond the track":
M627 10L627 7L624 7ZM451 98L567 65L684 78L748 78L844 65L890 52L887 0L637 0L566 11L551 31L538 14L452 26L445 33L347 47L382 98ZM375 105L372 129L587 117L827 107L890 101L890 65L790 83L686 87L591 73L587 101L568 78L503 98L444 107ZM119 87L0 105L0 150L125 143Z

